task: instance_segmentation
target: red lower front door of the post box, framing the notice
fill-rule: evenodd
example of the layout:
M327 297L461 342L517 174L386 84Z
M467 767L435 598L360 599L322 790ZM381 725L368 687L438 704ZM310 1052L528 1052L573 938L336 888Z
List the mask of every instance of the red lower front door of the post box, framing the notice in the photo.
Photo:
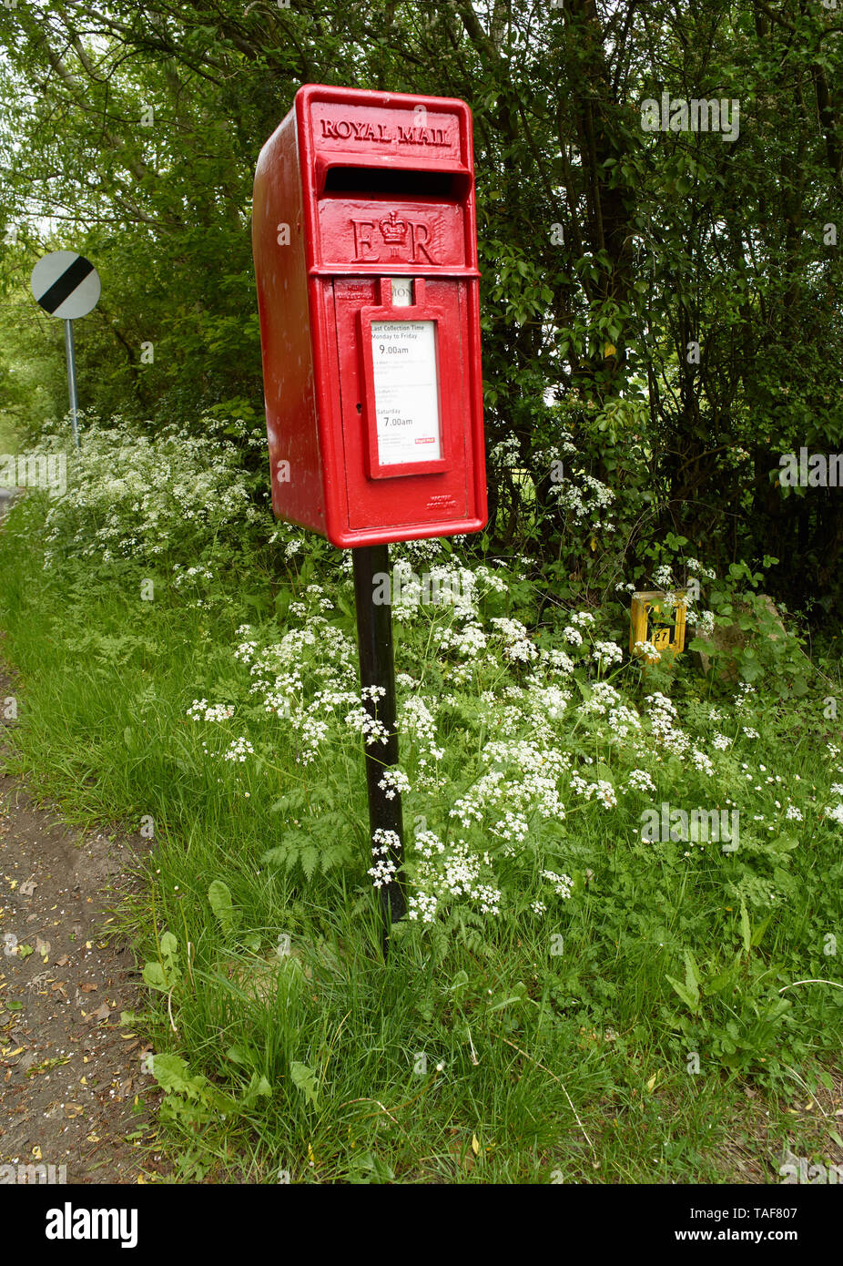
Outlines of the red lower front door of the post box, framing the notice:
M419 524L433 536L437 524L470 513L465 282L415 280L416 301L396 308L389 298L384 303L389 285L389 277L376 276L333 281L348 527ZM413 327L418 348L410 344L405 351L409 339L401 337L401 322ZM373 361L384 358L384 337L390 335L385 351L387 356L394 351L395 363L378 373ZM405 404L394 413L410 418L406 438L387 443L381 433L378 444L385 392Z

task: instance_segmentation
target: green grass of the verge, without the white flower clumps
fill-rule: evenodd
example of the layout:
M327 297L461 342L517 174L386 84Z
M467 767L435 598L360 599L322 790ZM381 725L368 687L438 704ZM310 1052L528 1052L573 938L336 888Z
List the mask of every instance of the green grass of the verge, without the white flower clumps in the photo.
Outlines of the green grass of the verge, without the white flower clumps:
M32 506L15 514L35 522ZM572 805L559 849L575 895L561 909L457 915L444 938L404 925L385 963L359 743L324 768L297 766L284 722L253 700L249 714L248 670L232 660L242 623L276 620L277 586L252 575L247 601L232 576L191 608L166 590L143 601L132 575L97 582L39 560L35 532L0 538L4 655L20 674L10 767L72 820L154 833L119 910L152 986L127 1023L153 1041L182 1179L776 1181L785 1143L840 1160L833 1114L804 1105L839 1105L843 990L792 990L776 1010L785 984L838 975L823 953L843 928L827 828L772 861L758 846L753 865L781 872L784 894L765 923L729 896L719 852L687 862L681 846L635 842L634 814ZM401 630L399 671L418 672L422 653ZM186 717L196 698L229 696L268 736L243 765L209 761L211 729ZM563 742L594 749L575 729ZM485 741L453 720L454 779ZM796 711L771 717L765 744L753 758L786 768L789 789L797 774L805 791L818 785L823 744ZM730 776L719 791L737 795L739 761ZM435 806L414 794L405 820ZM342 865L308 879L295 857L267 863L295 823L320 853L342 846ZM667 981L692 993L685 950L697 1006Z

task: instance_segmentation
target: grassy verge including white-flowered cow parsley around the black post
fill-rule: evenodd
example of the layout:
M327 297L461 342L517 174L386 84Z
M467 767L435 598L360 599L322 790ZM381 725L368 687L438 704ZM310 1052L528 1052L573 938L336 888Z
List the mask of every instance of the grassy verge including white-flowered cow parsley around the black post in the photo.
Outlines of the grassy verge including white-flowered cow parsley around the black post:
M638 577L697 580L697 625L747 624L748 681L721 675L725 655L708 676L691 653L642 674L625 595L577 610L461 543L394 549L416 918L385 965L342 558L280 528L272 575L243 533L235 566L185 580L201 530L147 500L113 530L142 549L157 517L172 542L148 603L130 549L72 566L59 503L23 499L0 534L0 620L28 681L15 760L78 814L156 822L149 895L122 917L184 1177L625 1181L656 1163L721 1181L743 1087L773 1122L795 1076L834 1067L843 989L787 986L837 976L839 741L790 620L762 624L759 570L711 577L672 533ZM62 568L42 567L47 515ZM459 600L422 601L425 570L458 577ZM796 671L808 691L778 698ZM642 838L663 801L739 806L739 847Z

